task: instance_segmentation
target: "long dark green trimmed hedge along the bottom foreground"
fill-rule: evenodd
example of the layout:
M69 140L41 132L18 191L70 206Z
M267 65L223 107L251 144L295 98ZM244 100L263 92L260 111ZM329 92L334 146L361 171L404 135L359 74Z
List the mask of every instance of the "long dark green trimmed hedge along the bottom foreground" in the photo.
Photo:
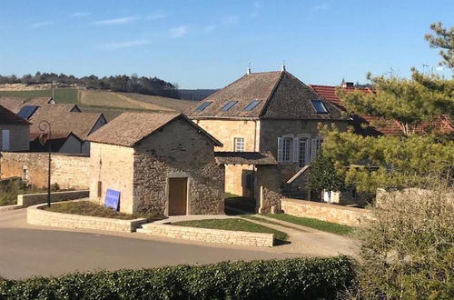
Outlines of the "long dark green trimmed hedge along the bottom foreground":
M0 279L0 298L333 299L352 280L345 256L295 258Z

